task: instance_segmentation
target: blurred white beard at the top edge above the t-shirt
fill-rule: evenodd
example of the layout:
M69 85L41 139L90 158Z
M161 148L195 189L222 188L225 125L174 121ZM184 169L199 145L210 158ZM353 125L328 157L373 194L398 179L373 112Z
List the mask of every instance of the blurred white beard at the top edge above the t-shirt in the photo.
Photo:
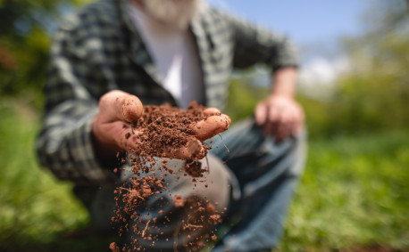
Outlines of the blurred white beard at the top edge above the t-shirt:
M188 28L205 6L204 0L143 0L146 13L175 28Z

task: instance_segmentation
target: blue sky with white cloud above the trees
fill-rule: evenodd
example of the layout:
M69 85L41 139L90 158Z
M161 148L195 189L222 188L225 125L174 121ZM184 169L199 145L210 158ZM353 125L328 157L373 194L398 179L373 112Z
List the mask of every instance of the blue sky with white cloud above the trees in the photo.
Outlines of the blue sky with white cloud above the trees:
M340 37L354 37L363 28L370 0L208 0L258 25L289 37L299 48L301 78L330 83L347 68L339 52Z

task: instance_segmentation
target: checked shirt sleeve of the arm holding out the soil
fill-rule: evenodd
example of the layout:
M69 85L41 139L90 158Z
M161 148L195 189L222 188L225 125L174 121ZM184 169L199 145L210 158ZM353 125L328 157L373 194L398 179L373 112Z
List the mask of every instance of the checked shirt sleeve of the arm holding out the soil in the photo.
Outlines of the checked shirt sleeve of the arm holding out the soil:
M111 164L96 160L92 144L92 120L98 99L83 85L85 47L70 29L60 28L54 37L45 86L46 113L38 135L41 165L62 180L75 183L113 182Z

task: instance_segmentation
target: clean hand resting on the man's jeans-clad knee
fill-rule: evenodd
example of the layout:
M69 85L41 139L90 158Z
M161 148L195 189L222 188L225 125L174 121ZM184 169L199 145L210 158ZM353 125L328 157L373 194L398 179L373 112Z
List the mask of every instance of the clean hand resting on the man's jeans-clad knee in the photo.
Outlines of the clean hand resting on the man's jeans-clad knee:
M304 111L293 98L271 94L255 108L255 123L263 126L264 136L273 134L275 142L280 142L300 132Z

